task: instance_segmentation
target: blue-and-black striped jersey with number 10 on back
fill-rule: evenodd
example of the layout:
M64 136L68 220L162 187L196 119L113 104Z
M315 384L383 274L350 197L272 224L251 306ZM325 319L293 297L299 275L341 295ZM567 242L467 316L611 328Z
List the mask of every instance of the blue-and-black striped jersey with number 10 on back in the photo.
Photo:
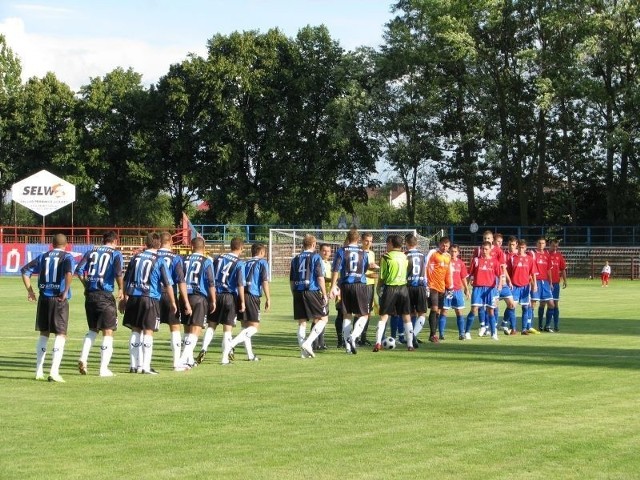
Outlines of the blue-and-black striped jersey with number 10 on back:
M162 287L173 286L167 264L156 252L145 250L129 260L124 275L125 291L131 297L160 300Z

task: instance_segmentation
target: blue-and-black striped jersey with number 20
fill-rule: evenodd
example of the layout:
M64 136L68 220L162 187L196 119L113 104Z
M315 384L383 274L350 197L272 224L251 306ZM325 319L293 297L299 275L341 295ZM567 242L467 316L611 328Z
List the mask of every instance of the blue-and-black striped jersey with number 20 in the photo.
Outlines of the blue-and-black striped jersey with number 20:
M123 274L122 253L102 245L84 254L76 268L76 275L85 280L85 291L113 292L116 278Z

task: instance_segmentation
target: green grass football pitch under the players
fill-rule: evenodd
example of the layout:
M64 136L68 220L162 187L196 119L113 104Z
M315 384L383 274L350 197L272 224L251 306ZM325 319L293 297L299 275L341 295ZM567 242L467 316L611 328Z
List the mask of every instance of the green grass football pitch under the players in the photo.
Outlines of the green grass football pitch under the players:
M330 349L301 359L276 280L253 339L261 362L237 349L221 366L217 332L202 365L173 372L163 325L160 375L129 374L121 327L113 378L97 376L100 337L89 375L77 372L86 321L74 287L56 384L34 380L35 304L19 278L0 278L2 479L640 477L640 282L569 279L558 333L496 342L476 322L462 342L451 312L446 340L415 352L345 355L332 306Z

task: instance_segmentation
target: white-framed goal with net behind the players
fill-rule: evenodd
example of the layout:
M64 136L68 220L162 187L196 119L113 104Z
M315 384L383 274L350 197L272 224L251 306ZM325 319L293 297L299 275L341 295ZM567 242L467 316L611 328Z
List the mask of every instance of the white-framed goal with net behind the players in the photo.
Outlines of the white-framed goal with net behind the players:
M344 245L344 240L349 230L347 229L280 229L269 230L269 270L272 277L288 276L291 267L291 259L302 251L302 240L305 235L314 235L318 247L326 243L331 246L333 253ZM392 234L405 235L413 234L418 237L418 246L425 253L434 242L444 235L444 231L439 231L431 237L419 235L415 229L358 229L358 233L370 233L373 236L373 251L376 259L387 250L387 237Z

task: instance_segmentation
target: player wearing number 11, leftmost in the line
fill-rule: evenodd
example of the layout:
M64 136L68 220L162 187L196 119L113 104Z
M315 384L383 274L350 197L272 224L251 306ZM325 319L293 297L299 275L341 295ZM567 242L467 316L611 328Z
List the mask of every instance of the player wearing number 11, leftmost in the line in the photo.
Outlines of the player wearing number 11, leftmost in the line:
M53 236L53 250L38 255L27 263L20 273L27 289L27 299L36 301L31 287L31 275L38 275L40 296L36 313L36 330L40 331L36 344L36 380L44 380L44 359L49 335L53 333L53 357L51 359L50 382L64 382L60 376L60 362L64 353L69 324L69 299L73 279L73 257L65 252L67 237L62 233Z

